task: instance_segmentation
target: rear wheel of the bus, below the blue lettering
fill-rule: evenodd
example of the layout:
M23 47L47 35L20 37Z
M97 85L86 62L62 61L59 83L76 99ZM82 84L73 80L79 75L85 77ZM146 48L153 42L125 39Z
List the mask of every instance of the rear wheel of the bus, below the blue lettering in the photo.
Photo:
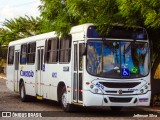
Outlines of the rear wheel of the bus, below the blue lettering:
M27 95L26 95L26 91L25 91L25 87L24 87L23 82L20 85L20 97L21 97L22 102L27 101Z

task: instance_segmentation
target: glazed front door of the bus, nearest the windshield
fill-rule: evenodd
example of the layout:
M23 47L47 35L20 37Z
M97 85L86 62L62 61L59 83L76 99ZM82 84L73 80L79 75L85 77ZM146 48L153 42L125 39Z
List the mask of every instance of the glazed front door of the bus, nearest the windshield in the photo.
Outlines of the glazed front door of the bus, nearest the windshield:
M84 41L74 42L74 67L73 67L73 101L83 102L83 53Z

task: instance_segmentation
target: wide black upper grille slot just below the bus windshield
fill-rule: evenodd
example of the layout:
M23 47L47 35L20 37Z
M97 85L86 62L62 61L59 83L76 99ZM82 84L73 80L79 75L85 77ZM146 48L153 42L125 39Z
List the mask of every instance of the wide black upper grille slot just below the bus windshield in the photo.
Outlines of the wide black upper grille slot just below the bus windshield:
M129 82L129 83L117 83L117 82L99 82L108 88L133 88L140 84L140 82Z

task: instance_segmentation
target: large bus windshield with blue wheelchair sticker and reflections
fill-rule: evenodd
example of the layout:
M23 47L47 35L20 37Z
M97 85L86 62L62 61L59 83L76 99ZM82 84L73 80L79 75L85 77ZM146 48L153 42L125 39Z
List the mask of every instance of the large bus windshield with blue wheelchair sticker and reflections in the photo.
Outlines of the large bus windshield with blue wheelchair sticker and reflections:
M87 71L106 78L138 78L149 72L148 43L88 40Z

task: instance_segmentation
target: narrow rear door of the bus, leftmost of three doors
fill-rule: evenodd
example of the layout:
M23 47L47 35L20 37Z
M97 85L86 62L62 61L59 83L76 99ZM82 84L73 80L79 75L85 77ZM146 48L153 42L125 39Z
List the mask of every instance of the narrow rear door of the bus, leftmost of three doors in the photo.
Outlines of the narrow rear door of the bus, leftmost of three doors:
M18 73L19 73L19 50L15 51L15 64L14 64L14 91L18 92Z

